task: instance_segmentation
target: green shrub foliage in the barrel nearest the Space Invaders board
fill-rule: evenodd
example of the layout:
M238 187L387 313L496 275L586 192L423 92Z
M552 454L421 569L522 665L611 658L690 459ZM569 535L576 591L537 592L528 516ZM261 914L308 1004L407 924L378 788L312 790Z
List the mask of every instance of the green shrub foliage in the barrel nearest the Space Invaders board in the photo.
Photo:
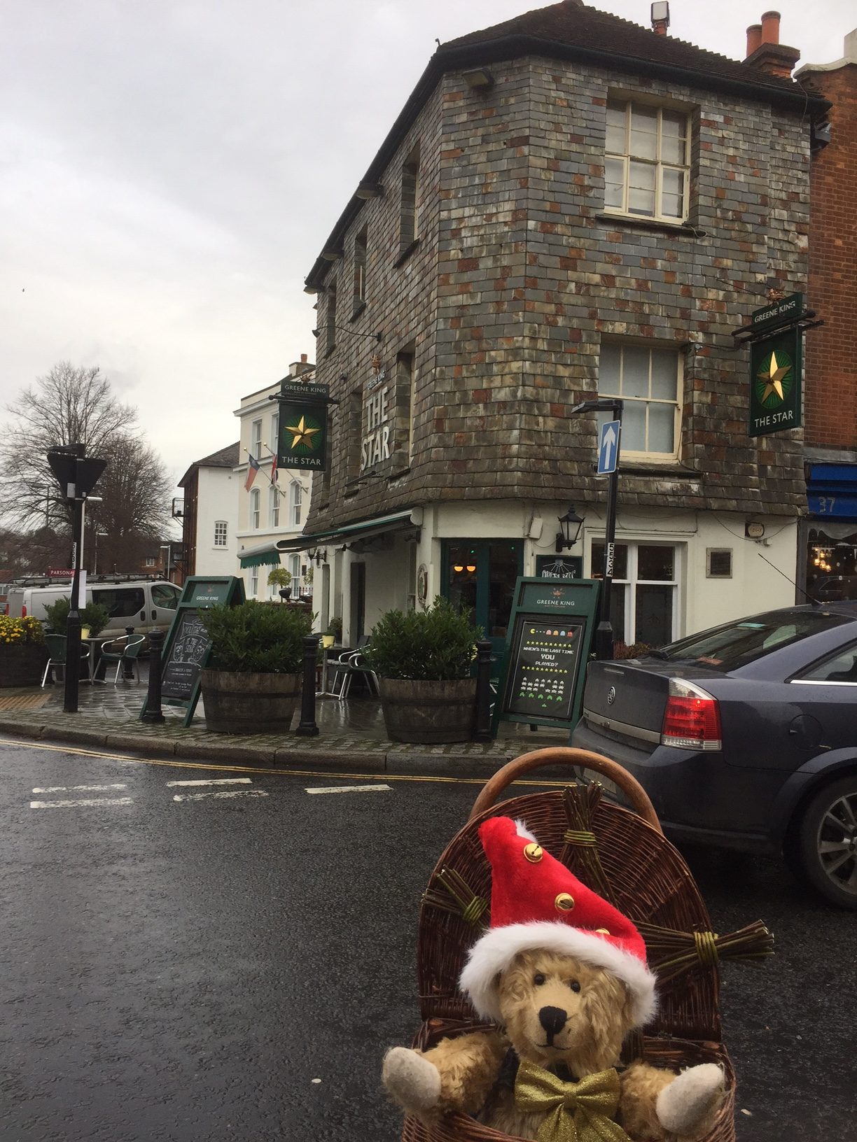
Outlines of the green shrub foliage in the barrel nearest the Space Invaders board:
M438 596L425 611L382 614L362 654L382 678L447 682L470 677L481 637L471 611Z

